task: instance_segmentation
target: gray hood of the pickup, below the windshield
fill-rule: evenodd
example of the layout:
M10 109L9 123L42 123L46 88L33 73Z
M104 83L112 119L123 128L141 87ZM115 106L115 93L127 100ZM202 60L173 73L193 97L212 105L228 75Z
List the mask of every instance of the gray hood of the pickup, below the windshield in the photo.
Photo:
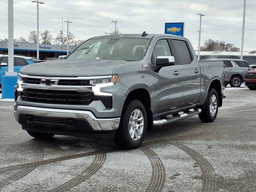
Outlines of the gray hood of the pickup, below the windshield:
M128 64L124 60L54 60L30 64L20 73L35 76L101 76L112 75L114 68Z

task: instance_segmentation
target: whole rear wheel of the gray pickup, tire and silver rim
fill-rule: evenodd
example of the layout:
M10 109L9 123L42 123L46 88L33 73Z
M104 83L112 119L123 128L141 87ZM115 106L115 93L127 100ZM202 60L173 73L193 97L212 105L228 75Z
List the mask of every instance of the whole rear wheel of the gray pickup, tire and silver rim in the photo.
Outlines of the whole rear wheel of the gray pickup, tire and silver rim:
M219 98L218 93L214 88L208 92L208 96L204 105L202 106L202 112L198 114L202 122L213 122L218 114Z

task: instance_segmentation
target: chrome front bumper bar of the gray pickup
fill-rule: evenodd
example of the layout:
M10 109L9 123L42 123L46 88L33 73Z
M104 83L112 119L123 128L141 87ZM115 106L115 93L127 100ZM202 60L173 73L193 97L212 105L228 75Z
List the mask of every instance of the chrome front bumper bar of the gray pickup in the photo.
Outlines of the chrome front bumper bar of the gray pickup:
M112 131L118 129L119 118L96 118L90 111L67 110L56 108L41 108L32 106L18 106L14 110L14 117L20 123L20 115L32 115L48 118L68 118L85 120L94 131Z

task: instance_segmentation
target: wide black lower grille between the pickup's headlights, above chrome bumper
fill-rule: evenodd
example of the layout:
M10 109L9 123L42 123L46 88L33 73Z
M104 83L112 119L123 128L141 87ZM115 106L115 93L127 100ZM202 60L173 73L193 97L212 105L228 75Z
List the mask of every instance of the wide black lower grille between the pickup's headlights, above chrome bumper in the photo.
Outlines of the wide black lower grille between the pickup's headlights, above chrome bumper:
M82 104L88 105L93 100L93 92L65 90L24 89L22 100L48 104Z

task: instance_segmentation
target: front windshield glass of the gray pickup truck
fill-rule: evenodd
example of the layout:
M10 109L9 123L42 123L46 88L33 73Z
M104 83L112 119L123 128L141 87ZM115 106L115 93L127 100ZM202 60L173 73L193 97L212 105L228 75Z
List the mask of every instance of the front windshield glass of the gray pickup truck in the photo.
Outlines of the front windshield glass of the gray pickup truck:
M100 38L90 39L67 59L115 59L139 61L146 53L149 38Z

